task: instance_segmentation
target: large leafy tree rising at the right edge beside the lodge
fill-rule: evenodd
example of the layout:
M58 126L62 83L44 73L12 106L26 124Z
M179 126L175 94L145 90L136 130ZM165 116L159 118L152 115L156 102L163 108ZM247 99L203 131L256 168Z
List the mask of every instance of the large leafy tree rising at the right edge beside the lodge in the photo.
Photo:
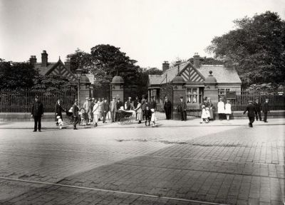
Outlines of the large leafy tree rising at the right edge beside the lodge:
M270 11L234 21L236 29L216 36L207 51L234 67L244 86L285 79L285 22Z

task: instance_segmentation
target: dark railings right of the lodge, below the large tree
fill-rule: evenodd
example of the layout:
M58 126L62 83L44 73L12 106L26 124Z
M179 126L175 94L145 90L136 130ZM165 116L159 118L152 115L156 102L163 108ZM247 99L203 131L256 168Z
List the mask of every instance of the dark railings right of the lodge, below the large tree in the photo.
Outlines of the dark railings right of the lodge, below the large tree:
M257 90L254 91L242 91L239 95L236 95L235 99L231 99L233 111L243 111L248 105L249 100L259 99L261 104L265 102L265 99L269 99L270 110L285 110L285 95L279 93L266 93Z

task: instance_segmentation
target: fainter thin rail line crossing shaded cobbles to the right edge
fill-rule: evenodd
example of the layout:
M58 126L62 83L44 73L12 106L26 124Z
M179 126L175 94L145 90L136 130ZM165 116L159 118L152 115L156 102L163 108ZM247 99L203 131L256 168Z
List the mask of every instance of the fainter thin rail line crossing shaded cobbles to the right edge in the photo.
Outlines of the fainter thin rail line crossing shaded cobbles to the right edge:
M229 172L217 172L211 170L203 170L203 169L185 169L185 168L173 168L173 167L162 167L162 166L149 166L149 165L141 165L141 164L128 164L128 163L118 163L122 165L129 165L134 167L155 167L155 168L162 168L162 169L174 169L174 170L186 170L186 171L196 171L196 172L210 172L210 173L217 173L217 174L231 174L231 175L242 175L242 176L250 176L250 177L266 177L266 178L273 178L273 179L285 179L285 177L269 177L269 176L261 176L257 174L245 174L245 173L229 173Z

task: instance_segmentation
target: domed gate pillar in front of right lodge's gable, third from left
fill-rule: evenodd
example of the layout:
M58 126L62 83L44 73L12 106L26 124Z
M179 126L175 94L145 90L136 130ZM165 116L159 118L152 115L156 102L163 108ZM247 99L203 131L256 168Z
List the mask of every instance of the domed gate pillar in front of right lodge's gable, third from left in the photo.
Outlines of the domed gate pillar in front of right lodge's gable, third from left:
M180 102L180 97L183 97L183 100L186 100L186 93L185 93L185 80L180 76L177 75L173 80L172 80L172 107L173 107L173 112L172 112L172 116L174 120L180 120L180 113L177 112L177 110L175 109L178 105L178 102Z

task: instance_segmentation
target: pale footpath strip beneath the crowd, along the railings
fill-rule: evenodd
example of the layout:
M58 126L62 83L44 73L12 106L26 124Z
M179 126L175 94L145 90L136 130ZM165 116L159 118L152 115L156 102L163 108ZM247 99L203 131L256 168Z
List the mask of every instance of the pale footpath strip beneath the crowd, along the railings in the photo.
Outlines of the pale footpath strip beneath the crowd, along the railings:
M64 120L64 119L63 119ZM213 120L209 123L199 123L199 117L191 117L187 116L187 121L180 120L165 120L164 113L157 113L157 121L155 127L212 127L212 126L248 126L249 120L239 119L239 120ZM263 121L254 121L254 126L265 126L265 125L285 125L285 118L269 118L268 122ZM132 122L124 123L123 125L120 122L110 122L110 120L106 120L107 123L103 124L102 121L98 123L98 127L93 127L93 125L88 126L80 126L78 125L78 129L85 128L142 128L145 126L145 121L142 121L141 124L138 124L138 121L133 117ZM59 129L56 126L56 122L48 121L41 122L42 130L50 130L50 129ZM148 126L147 126L148 127ZM152 127L152 122L150 122L150 127ZM70 122L65 122L63 126L64 129L72 129L73 125ZM0 121L0 129L33 129L33 121L30 122L1 122Z

